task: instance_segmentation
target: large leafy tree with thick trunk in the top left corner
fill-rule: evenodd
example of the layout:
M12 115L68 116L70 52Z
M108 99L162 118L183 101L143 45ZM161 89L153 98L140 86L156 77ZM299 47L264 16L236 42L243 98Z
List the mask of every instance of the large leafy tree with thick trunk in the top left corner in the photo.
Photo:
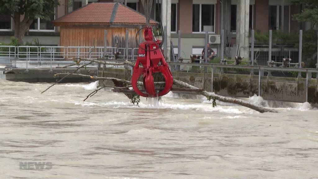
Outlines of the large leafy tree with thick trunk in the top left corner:
M0 0L0 14L14 19L14 36L23 42L24 34L34 19L51 20L59 0Z

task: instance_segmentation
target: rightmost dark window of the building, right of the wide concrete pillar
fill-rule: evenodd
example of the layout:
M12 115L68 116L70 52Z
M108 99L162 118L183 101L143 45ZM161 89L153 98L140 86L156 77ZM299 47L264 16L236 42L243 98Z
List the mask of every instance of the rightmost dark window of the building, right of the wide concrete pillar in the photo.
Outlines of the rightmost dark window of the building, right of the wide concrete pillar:
M282 25L281 5L270 5L268 12L268 28L270 30L283 30L284 32L290 31L290 6L284 6L283 23L284 25Z

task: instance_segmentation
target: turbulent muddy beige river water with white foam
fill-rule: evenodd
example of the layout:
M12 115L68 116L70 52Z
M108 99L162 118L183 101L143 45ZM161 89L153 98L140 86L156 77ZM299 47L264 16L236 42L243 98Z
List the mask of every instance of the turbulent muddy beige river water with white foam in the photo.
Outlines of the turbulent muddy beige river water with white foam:
M109 90L83 102L97 82L40 94L50 85L0 80L1 179L318 178L310 104L246 99L279 111L261 114L169 93L136 107Z

